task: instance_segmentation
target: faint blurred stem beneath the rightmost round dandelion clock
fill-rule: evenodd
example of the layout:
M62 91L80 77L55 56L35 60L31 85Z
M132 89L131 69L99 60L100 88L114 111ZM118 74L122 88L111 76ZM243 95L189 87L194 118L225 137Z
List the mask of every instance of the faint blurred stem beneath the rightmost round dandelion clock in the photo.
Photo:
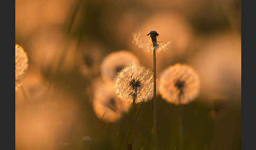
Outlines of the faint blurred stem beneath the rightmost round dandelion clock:
M184 143L184 128L183 128L183 106L181 104L181 98L179 97L179 149L183 149Z

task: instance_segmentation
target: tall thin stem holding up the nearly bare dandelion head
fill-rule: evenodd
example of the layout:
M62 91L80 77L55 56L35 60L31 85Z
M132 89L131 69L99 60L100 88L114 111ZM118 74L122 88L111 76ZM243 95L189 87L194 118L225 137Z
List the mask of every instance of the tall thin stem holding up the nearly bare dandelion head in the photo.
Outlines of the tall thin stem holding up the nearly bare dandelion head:
M156 131L156 58L155 58L155 50L156 47L154 46L153 50L153 72L154 72L154 91L153 91L153 149L156 149L157 146L157 131Z

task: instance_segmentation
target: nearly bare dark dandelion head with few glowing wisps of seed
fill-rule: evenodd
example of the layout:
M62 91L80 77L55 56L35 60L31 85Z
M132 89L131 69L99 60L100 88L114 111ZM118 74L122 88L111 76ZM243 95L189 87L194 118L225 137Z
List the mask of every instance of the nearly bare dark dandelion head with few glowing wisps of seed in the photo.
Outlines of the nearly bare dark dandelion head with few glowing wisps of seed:
M156 31L150 31L147 36L150 36L150 38L141 35L140 32L138 34L133 34L132 43L147 52L153 52L154 47L156 47L157 51L164 50L170 44L170 42L163 44L163 42L160 41L159 34Z

